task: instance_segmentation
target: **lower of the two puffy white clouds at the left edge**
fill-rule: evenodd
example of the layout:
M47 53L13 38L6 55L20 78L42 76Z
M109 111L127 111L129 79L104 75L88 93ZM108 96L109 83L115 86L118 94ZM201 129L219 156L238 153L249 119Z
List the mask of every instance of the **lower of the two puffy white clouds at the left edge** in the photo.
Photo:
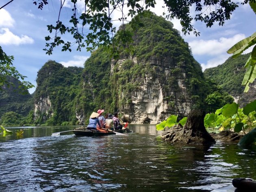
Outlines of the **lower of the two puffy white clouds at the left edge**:
M27 35L21 35L19 37L14 35L8 28L0 29L0 44L2 45L20 45L32 43L34 43L34 40Z

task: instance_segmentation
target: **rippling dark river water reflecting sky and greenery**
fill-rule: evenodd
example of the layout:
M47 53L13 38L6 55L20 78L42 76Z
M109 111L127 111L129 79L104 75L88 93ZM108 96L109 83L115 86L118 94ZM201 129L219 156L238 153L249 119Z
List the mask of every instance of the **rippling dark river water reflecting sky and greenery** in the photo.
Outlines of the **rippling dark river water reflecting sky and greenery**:
M154 125L129 127L126 136L102 137L6 127L14 133L0 134L0 192L208 192L236 177L256 179L255 146L171 145Z

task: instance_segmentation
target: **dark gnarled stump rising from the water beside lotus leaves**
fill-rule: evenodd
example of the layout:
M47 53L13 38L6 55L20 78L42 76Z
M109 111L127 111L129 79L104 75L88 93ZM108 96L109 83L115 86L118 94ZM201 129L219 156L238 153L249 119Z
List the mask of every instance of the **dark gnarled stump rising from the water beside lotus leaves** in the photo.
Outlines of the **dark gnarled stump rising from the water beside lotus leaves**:
M192 110L187 119L187 123L174 125L161 136L162 139L171 142L180 142L197 145L213 145L216 143L214 138L204 127L205 112L202 110Z

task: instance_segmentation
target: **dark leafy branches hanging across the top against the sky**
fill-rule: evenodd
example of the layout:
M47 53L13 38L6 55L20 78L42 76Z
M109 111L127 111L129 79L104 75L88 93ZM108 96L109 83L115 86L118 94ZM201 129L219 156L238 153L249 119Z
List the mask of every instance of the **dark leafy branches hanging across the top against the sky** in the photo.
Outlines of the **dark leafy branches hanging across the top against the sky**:
M113 27L113 15L115 11L120 11L121 17L118 18L121 24L124 22L133 23L132 28L139 26L140 22L138 14L145 14L146 10L154 8L157 1L155 0L85 0L84 12L79 13L77 0L71 0L73 7L73 15L69 23L61 20L61 13L65 4L65 0L61 1L59 9L59 17L56 19L56 24L49 24L48 31L53 35L48 35L45 39L46 54L52 54L54 47L62 46L63 51L71 51L74 43L77 44L76 50L81 50L86 47L87 51L92 51L100 46L113 46L113 56L118 54L115 49L116 42L130 42L131 36L123 28L123 32L115 34L116 28ZM249 0L244 0L241 4L248 3ZM48 4L48 0L38 0L33 2L38 9L43 9L43 6ZM182 32L184 34L193 32L196 36L200 35L193 27L193 21L201 21L206 24L206 27L211 27L215 22L223 26L226 20L230 19L230 15L239 3L223 0L164 0L163 7L167 8L167 13L164 13L167 19L180 19ZM124 12L127 7L128 14ZM195 17L191 15L190 9L195 9ZM135 18L130 21L128 19ZM72 25L69 27L69 25ZM89 28L89 32L85 33L84 29ZM70 33L74 37L74 43L64 41L61 35Z

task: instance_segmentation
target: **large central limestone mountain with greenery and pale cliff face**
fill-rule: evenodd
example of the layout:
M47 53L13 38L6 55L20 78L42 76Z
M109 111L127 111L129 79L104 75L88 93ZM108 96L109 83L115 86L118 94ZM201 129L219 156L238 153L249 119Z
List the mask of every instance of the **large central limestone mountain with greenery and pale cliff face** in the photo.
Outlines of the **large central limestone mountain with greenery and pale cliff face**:
M153 13L141 21L144 26L136 31L126 25L134 34L132 53L118 45L118 60L110 60L103 49L87 59L80 95L85 117L104 108L130 123L154 124L171 114L187 116L216 91L171 22Z

